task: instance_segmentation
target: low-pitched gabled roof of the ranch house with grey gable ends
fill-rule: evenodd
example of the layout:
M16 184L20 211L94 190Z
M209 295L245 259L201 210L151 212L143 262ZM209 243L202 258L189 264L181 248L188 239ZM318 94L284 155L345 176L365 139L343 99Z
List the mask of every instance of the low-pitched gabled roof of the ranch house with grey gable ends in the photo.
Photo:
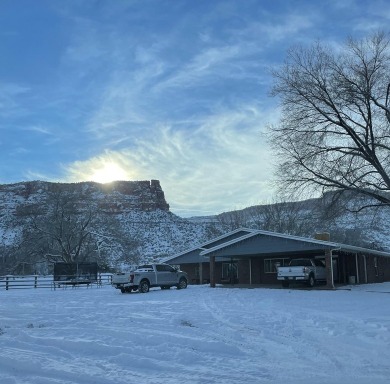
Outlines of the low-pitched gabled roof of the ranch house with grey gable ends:
M230 257L249 257L254 255L276 257L301 254L308 256L325 250L390 257L390 252L277 232L239 228L200 244L191 250L176 254L165 259L165 261L185 264L206 262L210 256L215 256L218 260L221 260L222 257L229 259Z

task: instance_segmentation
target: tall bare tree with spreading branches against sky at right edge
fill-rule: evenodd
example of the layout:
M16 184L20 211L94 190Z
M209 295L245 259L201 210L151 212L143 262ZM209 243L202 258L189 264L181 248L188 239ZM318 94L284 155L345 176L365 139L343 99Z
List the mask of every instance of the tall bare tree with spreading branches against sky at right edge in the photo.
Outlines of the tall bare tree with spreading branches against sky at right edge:
M295 47L273 72L282 116L270 139L290 196L352 191L362 207L390 205L389 44L376 33L337 52Z

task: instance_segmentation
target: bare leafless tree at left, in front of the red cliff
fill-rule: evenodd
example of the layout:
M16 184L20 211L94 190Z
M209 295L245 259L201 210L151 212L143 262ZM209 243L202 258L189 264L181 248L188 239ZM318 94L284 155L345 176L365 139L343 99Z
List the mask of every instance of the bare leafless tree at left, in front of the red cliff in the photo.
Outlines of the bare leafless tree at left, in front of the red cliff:
M101 266L137 261L139 241L122 230L114 215L80 191L51 186L46 211L27 210L20 247L29 259L48 262L97 261Z

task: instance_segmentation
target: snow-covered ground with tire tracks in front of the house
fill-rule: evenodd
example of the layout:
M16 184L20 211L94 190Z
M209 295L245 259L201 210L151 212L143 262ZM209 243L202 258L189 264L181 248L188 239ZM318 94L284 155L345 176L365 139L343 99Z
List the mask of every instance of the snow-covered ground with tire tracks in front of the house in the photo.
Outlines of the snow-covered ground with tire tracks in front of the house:
M1 384L390 383L390 284L0 291Z

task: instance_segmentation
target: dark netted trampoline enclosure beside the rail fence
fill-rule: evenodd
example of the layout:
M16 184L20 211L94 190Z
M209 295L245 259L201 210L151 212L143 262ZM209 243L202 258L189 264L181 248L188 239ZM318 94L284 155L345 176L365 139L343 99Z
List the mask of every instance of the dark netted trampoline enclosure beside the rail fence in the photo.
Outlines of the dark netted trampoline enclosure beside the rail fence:
M62 284L91 284L97 282L97 263L55 263L54 281Z

